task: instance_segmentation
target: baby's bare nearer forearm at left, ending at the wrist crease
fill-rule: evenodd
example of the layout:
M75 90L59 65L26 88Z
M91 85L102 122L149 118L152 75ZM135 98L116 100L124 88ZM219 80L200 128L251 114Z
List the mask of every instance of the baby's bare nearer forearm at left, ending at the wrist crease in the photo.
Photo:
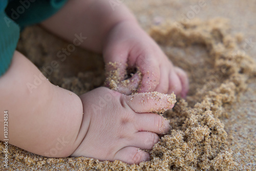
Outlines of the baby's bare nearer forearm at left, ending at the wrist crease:
M68 157L75 151L83 116L80 98L51 84L19 52L0 77L0 94L1 120L5 110L9 114L10 144L48 157Z

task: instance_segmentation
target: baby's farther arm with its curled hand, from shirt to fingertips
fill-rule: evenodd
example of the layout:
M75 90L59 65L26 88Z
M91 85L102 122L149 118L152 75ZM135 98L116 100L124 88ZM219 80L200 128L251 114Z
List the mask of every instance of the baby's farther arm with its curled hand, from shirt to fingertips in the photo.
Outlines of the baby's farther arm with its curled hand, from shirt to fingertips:
M117 2L113 7L113 3ZM42 26L73 42L76 35L87 37L80 47L103 53L106 72L112 71L109 62L120 63L118 82L124 80L126 68L138 68L127 87L141 92L157 91L186 96L188 79L186 73L174 67L156 42L139 26L134 15L119 1L73 1L68 3ZM133 80L141 80L134 83ZM108 82L107 82L108 83ZM133 85L134 84L134 85ZM119 89L120 88L120 89ZM129 89L118 84L115 89L130 94Z

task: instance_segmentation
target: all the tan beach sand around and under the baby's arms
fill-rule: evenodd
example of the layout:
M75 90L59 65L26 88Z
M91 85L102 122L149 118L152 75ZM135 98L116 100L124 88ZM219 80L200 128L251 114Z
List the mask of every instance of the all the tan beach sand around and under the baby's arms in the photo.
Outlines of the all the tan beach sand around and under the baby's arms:
M226 2L229 1L217 5L212 2L205 9L210 11L210 7L227 5ZM132 6L133 2L126 3L166 55L188 73L190 90L187 99L177 99L174 109L164 114L170 120L172 131L161 136L150 151L151 161L139 165L100 162L84 157L46 158L10 145L11 169L255 170L256 65L249 55L251 51L245 51L243 46L248 32L234 31L239 30L238 27L233 27L232 20L222 17L202 17L204 20L195 17L183 23L168 20L167 15L173 11L165 7L172 6L176 10L189 7L185 1L138 1L136 6ZM234 4L239 3L233 1ZM148 17L155 16L152 22L140 11L148 6L161 9L147 13ZM159 16L161 12L158 10L165 16ZM38 39L42 41L38 42ZM37 47L32 48L35 45ZM18 49L41 70L53 59L57 60L60 67L49 74L49 80L74 93L82 94L103 85L104 64L100 55L76 49L65 61L58 60L56 53L67 45L35 26L23 32ZM54 48L49 48L51 46ZM1 143L0 148L3 147ZM2 152L1 149L3 156Z

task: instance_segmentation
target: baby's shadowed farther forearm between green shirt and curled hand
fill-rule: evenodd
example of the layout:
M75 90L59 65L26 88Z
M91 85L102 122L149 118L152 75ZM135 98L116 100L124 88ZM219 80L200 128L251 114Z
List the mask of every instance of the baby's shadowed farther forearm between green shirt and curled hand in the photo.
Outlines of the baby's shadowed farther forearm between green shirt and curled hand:
M119 4L113 11L111 2L70 0L59 12L41 25L70 42L73 42L75 34L81 33L87 39L80 47L102 53L104 40L115 25L124 21L137 25L129 9Z

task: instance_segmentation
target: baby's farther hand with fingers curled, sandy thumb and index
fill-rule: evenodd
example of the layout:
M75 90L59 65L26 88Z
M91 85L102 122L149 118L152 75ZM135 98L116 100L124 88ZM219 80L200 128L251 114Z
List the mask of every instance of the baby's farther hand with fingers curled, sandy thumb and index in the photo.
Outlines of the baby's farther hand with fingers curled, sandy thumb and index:
M152 91L168 94L174 92L182 97L185 97L188 92L186 73L174 67L156 42L136 23L117 24L105 41L103 55L109 77L106 83L113 90L124 94ZM122 82L126 79L124 75L127 68L137 68L142 78L137 73L129 80Z

